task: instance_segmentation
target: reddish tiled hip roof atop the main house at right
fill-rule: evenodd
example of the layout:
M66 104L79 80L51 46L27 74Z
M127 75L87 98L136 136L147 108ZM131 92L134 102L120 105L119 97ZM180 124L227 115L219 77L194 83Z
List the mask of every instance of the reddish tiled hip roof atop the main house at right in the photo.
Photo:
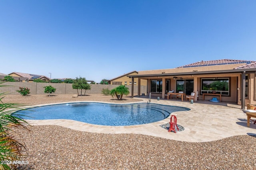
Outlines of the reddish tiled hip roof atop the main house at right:
M254 61L222 59L222 60L212 60L212 61L198 61L196 63L187 64L187 65L179 66L176 68L216 66L216 65L226 65L226 64L241 64L241 63L250 64L252 62Z

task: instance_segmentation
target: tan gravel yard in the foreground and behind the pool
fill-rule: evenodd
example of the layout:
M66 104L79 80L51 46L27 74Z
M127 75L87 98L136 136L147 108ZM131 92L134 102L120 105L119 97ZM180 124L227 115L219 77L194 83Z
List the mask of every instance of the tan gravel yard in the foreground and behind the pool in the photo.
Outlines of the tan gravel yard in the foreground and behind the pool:
M3 102L46 104L69 101L120 102L111 96L7 95ZM124 97L121 102L139 99ZM29 131L28 131L29 130ZM256 169L256 137L240 135L189 143L138 134L101 134L56 125L15 129L27 147L20 169Z

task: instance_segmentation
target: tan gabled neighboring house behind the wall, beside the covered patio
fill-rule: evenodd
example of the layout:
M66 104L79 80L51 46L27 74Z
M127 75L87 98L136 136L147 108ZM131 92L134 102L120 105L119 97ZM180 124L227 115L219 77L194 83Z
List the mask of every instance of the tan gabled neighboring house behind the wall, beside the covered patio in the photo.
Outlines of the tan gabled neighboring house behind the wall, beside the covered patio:
M132 72L128 72L126 74L123 74L121 76L118 76L116 78L113 78L110 80L110 84L117 84L117 85L132 85L132 78L129 77L129 76L133 76L133 75L138 75L138 72L137 71L132 71ZM138 85L138 78L134 78L134 82L133 84L135 86ZM140 82L140 85L142 86L146 86L147 85L147 80L142 80Z

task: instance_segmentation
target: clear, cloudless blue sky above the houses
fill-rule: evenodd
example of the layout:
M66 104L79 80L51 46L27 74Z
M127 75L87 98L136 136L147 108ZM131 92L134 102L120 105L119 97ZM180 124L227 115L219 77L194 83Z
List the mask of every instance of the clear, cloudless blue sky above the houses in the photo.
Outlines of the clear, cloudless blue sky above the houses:
M256 0L0 0L0 73L111 79L256 61Z

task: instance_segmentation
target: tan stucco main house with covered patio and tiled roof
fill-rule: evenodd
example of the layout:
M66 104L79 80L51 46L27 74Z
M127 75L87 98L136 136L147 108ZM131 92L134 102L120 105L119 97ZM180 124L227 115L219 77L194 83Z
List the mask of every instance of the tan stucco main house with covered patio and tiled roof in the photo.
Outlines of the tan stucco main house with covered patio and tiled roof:
M200 61L171 69L139 71L130 77L132 81L137 79L138 86L146 80L147 93L151 92L151 96L164 98L169 90L174 90L186 95L198 92L200 100L203 94L216 93L221 94L221 101L236 102L243 109L246 103L256 104L256 61ZM212 97L216 96L205 96L205 100Z

